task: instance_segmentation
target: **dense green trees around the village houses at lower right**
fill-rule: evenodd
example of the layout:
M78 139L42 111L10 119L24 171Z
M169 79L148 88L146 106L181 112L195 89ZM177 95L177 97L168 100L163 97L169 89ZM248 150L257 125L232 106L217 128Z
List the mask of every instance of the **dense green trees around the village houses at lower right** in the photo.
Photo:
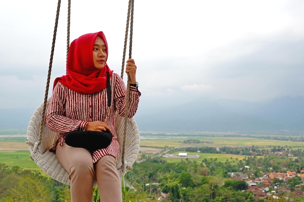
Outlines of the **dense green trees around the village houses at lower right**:
M245 165L249 165L250 169ZM200 163L189 159L180 159L178 162L168 162L163 158L147 159L144 163L135 163L133 170L129 171L126 180L131 182L137 191L131 190L129 199L135 202L136 194L145 195L147 201L156 202L157 192L170 193L170 201L182 202L248 202L257 201L256 194L244 191L248 184L241 180L231 180L230 172L241 172L248 179L261 177L270 172L270 166L277 165L277 169L284 167L290 169L304 166L304 161L293 160L286 157L270 155L265 158L248 156L236 164L220 162L216 158L203 159ZM242 168L240 170L240 168ZM276 178L277 179L277 178ZM152 182L157 182L152 184ZM287 202L285 197L294 197L286 190L301 190L301 179L294 177L288 181L280 181L282 187L277 202ZM147 184L149 184L147 186ZM274 190L272 184L269 190ZM293 187L291 189L291 187ZM266 195L266 193L265 193ZM267 196L267 195L266 195ZM271 202L271 193L265 202ZM264 200L262 200L264 201ZM293 201L303 202L304 198L293 198Z

